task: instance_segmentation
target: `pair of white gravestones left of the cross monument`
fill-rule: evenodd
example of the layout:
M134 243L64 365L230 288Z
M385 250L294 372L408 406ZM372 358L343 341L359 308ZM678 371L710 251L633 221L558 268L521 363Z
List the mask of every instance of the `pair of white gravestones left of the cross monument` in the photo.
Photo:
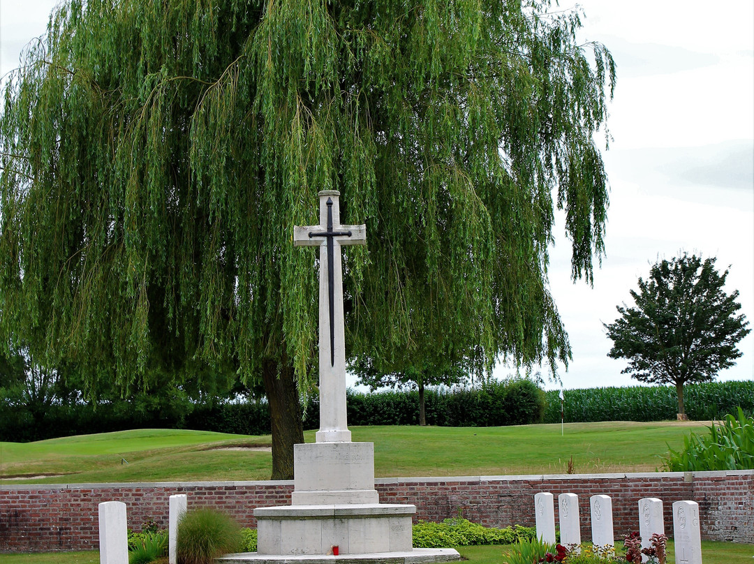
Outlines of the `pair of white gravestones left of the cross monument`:
M186 510L185 494L170 496L168 516L168 562L176 564L176 533L178 522ZM128 529L126 504L105 501L100 512L100 564L128 564Z

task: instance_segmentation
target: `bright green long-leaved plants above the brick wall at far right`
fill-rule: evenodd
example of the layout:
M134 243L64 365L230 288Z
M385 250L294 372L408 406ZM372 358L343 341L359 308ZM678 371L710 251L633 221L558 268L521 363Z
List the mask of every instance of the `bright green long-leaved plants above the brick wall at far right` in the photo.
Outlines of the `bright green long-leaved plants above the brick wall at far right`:
M706 470L754 470L754 418L737 409L738 418L725 415L719 425L708 427L710 435L683 437L683 448L664 460L663 469L673 472Z

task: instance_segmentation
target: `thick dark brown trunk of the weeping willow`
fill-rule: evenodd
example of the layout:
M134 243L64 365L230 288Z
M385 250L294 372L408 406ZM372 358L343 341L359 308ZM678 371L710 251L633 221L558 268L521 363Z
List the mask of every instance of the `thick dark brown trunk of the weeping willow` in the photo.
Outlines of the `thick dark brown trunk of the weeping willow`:
M301 403L293 366L265 360L262 381L270 405L272 480L293 480L293 445L304 442Z

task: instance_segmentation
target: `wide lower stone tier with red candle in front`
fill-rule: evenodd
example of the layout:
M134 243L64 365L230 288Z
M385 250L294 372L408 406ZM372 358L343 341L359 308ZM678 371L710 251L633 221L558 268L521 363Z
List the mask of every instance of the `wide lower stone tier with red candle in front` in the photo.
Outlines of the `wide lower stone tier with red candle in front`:
M414 505L333 504L257 507L259 555L410 552Z

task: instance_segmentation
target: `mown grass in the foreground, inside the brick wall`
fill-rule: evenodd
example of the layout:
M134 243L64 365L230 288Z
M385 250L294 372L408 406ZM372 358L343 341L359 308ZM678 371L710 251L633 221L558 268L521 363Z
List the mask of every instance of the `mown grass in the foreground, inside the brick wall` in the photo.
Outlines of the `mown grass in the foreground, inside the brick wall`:
M458 547L461 558L469 564L500 564L501 555L506 554L510 546L483 545L476 547ZM704 564L751 564L754 556L754 544L734 544L731 542L702 541ZM3 554L3 564L26 564L29 554ZM97 564L100 553L97 550L87 552L52 552L34 554L35 564ZM667 564L675 562L673 541L668 541Z

